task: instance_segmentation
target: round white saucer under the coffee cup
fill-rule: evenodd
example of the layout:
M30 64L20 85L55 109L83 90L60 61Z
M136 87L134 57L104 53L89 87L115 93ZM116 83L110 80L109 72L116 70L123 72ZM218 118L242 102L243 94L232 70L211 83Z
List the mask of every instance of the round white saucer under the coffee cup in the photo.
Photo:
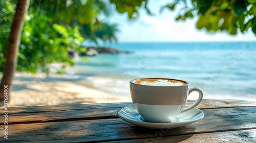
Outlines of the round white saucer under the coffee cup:
M145 121L134 105L125 106L117 111L117 115L124 121L132 123L137 126L151 128L151 129L173 129L181 126L186 126L188 124L197 122L204 117L204 113L197 109L193 108L186 112L183 112L177 116L177 121L169 123L151 123Z

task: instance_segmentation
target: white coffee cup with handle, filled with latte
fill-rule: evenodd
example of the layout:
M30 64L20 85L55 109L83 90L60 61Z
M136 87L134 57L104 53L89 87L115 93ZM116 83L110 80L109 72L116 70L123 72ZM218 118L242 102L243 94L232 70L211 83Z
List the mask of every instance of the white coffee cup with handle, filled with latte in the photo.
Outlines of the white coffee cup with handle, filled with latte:
M183 80L167 78L141 78L130 81L132 101L139 114L148 122L175 122L181 112L195 108L203 99L199 88L189 89ZM199 93L198 100L185 107L192 91Z

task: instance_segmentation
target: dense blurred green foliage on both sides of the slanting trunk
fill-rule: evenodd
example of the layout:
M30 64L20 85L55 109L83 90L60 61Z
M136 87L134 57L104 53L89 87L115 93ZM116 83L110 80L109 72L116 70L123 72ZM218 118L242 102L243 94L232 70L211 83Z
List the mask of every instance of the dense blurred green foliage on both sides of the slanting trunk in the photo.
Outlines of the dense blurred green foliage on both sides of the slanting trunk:
M0 72L3 71L6 61L6 48L15 6L12 0L0 2ZM73 65L74 61L69 58L67 52L85 52L86 48L80 46L84 38L96 43L99 39L116 40L116 27L97 19L102 11L108 15L108 7L99 0L32 0L24 18L17 53L17 71L36 73L41 70L48 74L49 64L53 62L64 63L62 68L65 68L66 64ZM95 27L96 22L100 23L100 26ZM84 29L86 25L90 27ZM92 35L86 35L84 31L90 31ZM57 73L62 74L63 70Z

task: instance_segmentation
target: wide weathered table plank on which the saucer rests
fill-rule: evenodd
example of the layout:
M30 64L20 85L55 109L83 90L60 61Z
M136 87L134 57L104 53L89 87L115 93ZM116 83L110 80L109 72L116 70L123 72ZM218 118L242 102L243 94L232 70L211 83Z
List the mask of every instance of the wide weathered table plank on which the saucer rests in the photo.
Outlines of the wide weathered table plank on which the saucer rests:
M203 120L176 129L153 130L127 123L119 118L9 125L10 141L118 141L236 130L256 129L256 108L203 109ZM4 134L0 134L3 138ZM8 140L9 141L9 140Z

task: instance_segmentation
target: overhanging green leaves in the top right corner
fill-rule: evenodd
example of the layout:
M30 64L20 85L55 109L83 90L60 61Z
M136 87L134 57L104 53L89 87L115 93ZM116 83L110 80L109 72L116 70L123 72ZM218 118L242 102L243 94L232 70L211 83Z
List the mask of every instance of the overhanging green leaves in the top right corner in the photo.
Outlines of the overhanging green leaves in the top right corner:
M207 31L226 30L230 34L237 34L237 30L242 33L251 28L256 35L256 1L254 0L222 0L205 1L191 0L189 4L186 0L176 0L173 4L162 7L174 10L176 5L183 6L176 20L185 20L195 15L199 16L197 28L206 28Z

